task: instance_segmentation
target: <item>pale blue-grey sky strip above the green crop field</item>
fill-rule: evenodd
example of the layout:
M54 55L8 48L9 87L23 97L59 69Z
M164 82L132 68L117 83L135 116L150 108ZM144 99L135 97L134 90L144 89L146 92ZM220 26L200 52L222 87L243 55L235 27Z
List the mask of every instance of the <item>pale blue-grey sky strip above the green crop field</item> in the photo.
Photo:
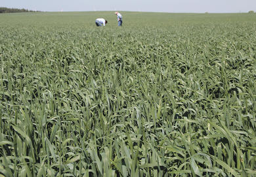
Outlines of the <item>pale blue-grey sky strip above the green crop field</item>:
M248 12L256 0L0 0L0 7L41 11Z

